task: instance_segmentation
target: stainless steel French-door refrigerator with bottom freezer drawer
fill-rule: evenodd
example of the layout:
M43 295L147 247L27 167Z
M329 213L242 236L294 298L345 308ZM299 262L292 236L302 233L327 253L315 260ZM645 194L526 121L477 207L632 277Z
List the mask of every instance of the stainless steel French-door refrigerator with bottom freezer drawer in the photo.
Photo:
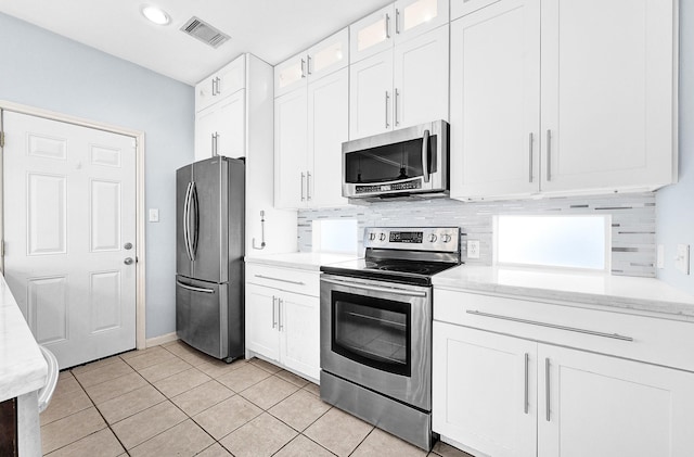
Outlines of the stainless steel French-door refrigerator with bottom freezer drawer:
M176 333L227 361L244 354L244 200L243 160L176 172Z

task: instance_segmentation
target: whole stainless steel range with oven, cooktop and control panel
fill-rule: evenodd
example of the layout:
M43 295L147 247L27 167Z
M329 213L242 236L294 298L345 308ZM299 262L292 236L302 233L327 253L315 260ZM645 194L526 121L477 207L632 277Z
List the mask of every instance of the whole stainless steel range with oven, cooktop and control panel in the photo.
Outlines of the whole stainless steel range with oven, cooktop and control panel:
M321 267L321 398L432 447L432 276L460 229L367 228L363 259Z

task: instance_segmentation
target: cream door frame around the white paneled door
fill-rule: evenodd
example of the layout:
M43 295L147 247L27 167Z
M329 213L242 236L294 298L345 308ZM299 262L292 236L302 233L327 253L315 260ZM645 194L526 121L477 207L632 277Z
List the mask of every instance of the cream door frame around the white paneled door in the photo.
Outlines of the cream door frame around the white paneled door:
M144 210L144 131L119 127L112 124L100 123L86 119L83 117L72 116L64 113L43 110L36 106L23 105L0 99L0 131L3 129L2 113L11 111L20 114L42 117L50 120L57 120L74 124L80 127L88 127L104 130L112 134L124 135L136 140L136 348L146 347L145 327L145 210ZM0 145L0 240L4 240L4 147ZM4 275L4 252L0 252L0 272Z

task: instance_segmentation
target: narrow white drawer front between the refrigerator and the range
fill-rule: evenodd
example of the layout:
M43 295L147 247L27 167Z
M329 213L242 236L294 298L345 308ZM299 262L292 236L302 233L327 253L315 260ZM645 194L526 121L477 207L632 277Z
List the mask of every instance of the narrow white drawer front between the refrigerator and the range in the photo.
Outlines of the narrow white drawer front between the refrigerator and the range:
M319 296L320 294L318 271L246 264L246 282L304 295Z

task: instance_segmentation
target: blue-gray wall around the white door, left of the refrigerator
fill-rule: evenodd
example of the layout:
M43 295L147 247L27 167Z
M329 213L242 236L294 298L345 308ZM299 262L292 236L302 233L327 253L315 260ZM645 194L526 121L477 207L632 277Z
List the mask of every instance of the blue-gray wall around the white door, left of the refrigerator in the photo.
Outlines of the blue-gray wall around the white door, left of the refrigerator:
M194 89L0 13L0 100L145 132L146 338L176 331L176 169L193 161Z

